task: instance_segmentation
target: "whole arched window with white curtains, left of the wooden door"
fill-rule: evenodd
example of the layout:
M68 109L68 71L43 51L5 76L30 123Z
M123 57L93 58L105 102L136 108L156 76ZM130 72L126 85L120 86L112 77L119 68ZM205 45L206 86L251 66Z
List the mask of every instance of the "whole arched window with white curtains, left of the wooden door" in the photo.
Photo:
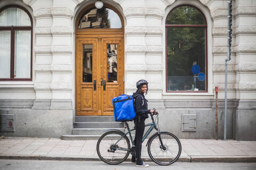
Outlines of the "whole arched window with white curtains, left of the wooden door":
M0 9L0 80L32 80L32 31L25 8L8 5Z

